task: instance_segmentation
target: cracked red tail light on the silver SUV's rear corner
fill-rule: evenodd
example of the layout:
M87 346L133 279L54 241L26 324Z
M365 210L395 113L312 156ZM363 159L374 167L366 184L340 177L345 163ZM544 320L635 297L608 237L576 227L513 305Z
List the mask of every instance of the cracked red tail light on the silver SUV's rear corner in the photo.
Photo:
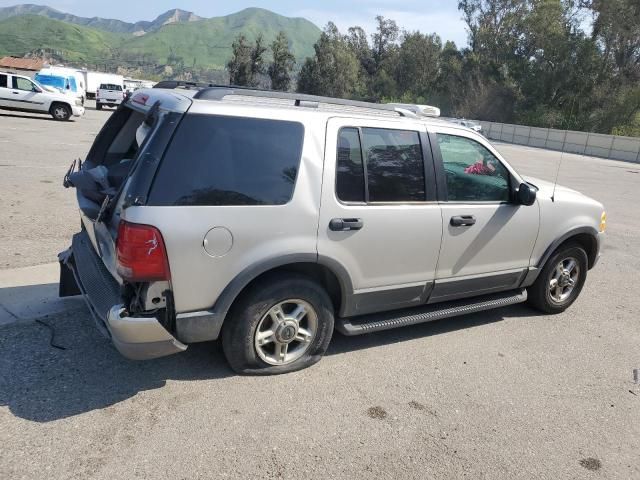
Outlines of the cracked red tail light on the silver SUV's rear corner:
M167 249L155 227L121 221L116 253L118 274L129 282L171 279Z

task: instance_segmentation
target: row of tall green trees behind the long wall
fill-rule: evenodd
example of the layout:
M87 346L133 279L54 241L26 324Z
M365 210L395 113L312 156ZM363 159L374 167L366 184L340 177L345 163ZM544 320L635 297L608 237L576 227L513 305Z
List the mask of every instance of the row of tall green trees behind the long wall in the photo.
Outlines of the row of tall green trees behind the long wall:
M269 47L238 37L230 83L640 136L640 1L460 0L458 8L463 48L381 16L371 35L328 23L301 65L282 32Z

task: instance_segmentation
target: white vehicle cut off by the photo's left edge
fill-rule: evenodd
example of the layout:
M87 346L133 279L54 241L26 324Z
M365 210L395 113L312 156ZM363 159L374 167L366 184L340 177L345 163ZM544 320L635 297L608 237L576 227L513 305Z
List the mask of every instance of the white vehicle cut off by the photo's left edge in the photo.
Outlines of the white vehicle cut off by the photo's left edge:
M79 99L50 91L29 77L0 72L0 109L47 113L54 120L69 120L84 115Z

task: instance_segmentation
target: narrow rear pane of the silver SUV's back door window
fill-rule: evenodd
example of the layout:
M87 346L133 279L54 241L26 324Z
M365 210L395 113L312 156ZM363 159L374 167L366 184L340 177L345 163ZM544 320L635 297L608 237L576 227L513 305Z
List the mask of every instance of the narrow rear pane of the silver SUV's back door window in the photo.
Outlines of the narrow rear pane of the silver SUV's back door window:
M364 202L364 166L357 128L343 128L338 134L336 193L343 202Z

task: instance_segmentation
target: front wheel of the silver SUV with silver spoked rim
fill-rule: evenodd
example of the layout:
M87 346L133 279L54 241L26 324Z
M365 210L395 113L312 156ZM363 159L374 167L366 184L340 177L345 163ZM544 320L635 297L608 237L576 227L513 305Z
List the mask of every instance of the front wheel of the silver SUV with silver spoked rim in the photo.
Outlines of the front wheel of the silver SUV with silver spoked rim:
M561 246L529 287L528 303L545 313L564 312L578 299L587 279L587 270L588 257L581 246Z

